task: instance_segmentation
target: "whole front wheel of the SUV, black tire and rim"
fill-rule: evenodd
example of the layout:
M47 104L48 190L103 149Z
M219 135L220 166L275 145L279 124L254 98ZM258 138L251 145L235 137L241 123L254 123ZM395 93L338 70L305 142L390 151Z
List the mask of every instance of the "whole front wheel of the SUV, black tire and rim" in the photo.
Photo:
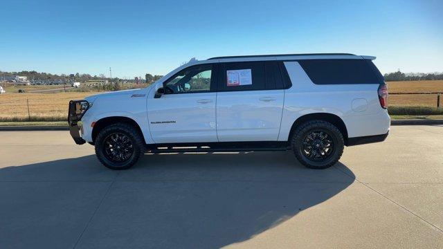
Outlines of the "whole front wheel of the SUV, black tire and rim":
M103 128L97 135L95 147L98 160L109 169L129 169L144 152L141 134L125 123Z

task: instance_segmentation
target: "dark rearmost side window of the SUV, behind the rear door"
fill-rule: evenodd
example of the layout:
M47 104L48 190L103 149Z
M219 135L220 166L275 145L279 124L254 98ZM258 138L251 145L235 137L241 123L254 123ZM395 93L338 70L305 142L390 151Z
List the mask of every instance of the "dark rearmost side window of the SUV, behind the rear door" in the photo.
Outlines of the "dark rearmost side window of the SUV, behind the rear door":
M314 84L381 84L365 59L305 59L298 63Z

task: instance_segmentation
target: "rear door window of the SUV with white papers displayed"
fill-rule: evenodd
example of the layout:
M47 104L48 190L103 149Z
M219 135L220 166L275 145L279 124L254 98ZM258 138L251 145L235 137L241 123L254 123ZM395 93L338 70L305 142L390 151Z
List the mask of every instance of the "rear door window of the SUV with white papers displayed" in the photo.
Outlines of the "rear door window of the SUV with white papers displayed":
M282 89L277 62L222 63L218 91Z

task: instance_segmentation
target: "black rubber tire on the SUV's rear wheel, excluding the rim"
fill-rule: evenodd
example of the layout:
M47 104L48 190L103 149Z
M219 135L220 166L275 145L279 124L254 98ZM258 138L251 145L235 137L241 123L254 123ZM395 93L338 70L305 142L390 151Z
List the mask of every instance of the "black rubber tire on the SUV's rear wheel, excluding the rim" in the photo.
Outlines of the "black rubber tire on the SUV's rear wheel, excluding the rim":
M334 142L334 150L331 152L328 158L325 158L325 160L321 162L314 162L313 160L310 160L304 154L302 149L302 143L304 142L307 135L311 133L311 131L316 130L327 131ZM343 135L341 134L341 131L338 130L337 127L334 126L334 124L323 120L311 120L301 124L296 128L291 138L291 148L296 155L296 158L300 163L302 163L302 165L305 165L310 169L325 169L337 163L338 160L341 158L341 155L343 154L344 144L345 142L343 140Z

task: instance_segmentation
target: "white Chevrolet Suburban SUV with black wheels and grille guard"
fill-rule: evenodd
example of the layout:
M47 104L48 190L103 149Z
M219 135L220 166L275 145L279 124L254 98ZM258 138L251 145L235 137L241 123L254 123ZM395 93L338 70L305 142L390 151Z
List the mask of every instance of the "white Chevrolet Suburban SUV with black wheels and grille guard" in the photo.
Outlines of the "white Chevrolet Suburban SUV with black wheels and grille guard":
M191 59L145 89L69 103L71 136L127 169L145 151L293 150L334 165L343 147L388 136L388 91L375 57L253 55Z

